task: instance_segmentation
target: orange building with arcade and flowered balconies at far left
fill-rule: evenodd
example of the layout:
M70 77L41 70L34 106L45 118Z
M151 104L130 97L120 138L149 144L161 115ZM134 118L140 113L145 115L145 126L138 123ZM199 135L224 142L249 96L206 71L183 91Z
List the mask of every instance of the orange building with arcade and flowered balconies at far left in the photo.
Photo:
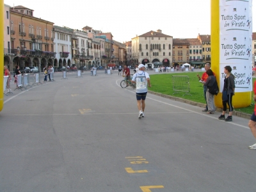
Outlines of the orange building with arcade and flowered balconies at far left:
M24 6L10 8L10 49L13 55L4 55L10 70L19 65L42 70L53 65L53 22L33 17L33 10Z

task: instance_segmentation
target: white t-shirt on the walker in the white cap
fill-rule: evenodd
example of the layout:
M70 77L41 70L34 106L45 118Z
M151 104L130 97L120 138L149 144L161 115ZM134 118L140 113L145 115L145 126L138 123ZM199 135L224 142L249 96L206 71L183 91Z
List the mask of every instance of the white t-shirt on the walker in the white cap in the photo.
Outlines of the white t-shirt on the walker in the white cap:
M149 75L143 70L139 70L132 76L132 81L136 81L136 93L148 92L148 81Z

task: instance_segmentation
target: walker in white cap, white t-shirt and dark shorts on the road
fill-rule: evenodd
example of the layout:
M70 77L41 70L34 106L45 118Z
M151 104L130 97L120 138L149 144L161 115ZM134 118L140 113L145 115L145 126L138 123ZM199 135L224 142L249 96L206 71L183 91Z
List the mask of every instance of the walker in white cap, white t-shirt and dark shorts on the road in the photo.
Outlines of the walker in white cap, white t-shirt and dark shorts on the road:
M145 72L145 65L140 64L138 66L139 70L132 76L132 83L136 83L136 99L137 106L139 109L138 118L144 117L145 111L145 99L147 96L148 89L147 87L151 87L150 77L147 72Z

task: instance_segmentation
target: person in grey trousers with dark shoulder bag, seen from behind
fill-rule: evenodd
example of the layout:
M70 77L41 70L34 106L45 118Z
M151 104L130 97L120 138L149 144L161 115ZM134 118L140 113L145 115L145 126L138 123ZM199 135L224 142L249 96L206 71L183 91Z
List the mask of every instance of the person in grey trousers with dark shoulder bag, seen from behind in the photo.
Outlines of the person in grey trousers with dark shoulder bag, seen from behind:
M209 92L209 88L211 88L215 83L216 77L214 76L211 69L207 70L206 74L208 75L208 77L204 83L204 86L207 87L207 92L206 92L206 101L208 106L207 114L214 114L214 111L215 111L214 95Z

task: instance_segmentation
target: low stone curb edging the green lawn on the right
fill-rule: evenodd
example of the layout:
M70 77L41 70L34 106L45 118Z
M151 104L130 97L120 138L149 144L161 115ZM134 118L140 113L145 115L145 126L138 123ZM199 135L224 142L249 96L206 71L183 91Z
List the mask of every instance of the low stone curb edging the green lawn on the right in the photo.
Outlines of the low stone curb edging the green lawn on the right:
M177 100L179 102L185 102L185 103L190 104L192 106L198 106L200 108L205 108L205 104L202 104L200 102L195 102L195 101L192 101L192 100L182 99L182 98L179 98L179 97L173 97L171 95L164 95L162 93L152 92L152 91L149 91L149 90L148 90L148 93L151 93L151 94L154 94L154 95L157 95L157 96L160 96L160 97L164 97L164 98L167 98L167 99ZM222 112L222 108L216 108L216 111ZM228 111L227 111L227 113L228 113ZM239 112L239 111L233 111L233 115L240 116L240 117L246 118L246 119L250 119L251 116L252 116L251 114L242 113L242 112Z

